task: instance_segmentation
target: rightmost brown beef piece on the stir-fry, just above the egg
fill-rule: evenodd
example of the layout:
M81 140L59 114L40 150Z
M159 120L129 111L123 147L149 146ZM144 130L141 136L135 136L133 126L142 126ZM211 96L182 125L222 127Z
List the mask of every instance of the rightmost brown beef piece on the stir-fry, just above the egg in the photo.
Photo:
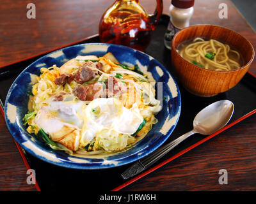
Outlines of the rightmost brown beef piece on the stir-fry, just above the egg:
M126 86L124 85L124 83L118 80L118 78L112 76L106 80L106 87L108 89L108 97L112 97L117 94L122 94L126 91Z

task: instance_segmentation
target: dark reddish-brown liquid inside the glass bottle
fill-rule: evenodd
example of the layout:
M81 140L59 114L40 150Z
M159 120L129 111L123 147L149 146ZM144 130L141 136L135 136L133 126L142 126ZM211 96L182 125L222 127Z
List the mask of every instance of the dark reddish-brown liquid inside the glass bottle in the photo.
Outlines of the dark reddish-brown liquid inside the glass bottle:
M100 20L100 41L143 51L150 43L154 28L155 25L150 24L148 16L143 12L113 11L108 18Z

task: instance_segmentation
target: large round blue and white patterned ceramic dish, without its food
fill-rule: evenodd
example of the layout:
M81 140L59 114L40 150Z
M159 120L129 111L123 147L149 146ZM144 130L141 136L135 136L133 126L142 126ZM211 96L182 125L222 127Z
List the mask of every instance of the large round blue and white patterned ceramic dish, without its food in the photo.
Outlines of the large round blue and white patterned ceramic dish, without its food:
M28 112L28 91L31 90L35 75L40 75L40 68L50 67L53 64L60 67L77 55L102 56L107 52L113 53L122 64L138 64L142 71L147 69L156 82L163 82L163 108L156 115L159 122L153 126L145 138L124 152L111 156L88 158L70 156L63 151L52 150L29 134L23 125L22 118ZM175 128L179 120L180 107L179 87L167 69L156 59L143 52L121 45L91 43L62 48L41 57L29 65L28 68L20 73L19 77L13 82L12 87L10 87L4 112L10 133L12 133L12 136L20 146L33 156L66 168L101 169L131 163L147 156L150 152L160 147Z

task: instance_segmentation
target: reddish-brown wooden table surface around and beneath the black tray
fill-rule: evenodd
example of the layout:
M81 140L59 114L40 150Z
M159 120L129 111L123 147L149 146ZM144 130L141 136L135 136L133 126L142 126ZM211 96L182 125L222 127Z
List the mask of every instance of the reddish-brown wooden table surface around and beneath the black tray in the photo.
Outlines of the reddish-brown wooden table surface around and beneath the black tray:
M31 1L2 0L0 8L0 67L31 55L82 40L98 32L99 19L113 1L36 0L36 19L26 18ZM148 13L154 0L141 0ZM228 6L228 18L218 17L218 5ZM168 14L170 0L164 0ZM256 47L256 34L229 0L196 0L191 24L223 25L241 33ZM256 75L256 62L250 68ZM255 101L256 102L256 101ZM208 142L125 187L124 191L255 191L256 115L239 122ZM0 190L36 191L28 185L26 166L0 115ZM220 185L220 169L228 184Z

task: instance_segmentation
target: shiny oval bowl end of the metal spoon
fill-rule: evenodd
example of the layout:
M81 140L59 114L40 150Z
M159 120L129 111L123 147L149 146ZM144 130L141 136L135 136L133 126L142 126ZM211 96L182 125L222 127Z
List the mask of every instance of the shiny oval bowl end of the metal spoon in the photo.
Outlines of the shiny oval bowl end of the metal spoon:
M223 128L234 113L234 103L221 100L205 107L197 113L193 126L196 133L211 135Z

